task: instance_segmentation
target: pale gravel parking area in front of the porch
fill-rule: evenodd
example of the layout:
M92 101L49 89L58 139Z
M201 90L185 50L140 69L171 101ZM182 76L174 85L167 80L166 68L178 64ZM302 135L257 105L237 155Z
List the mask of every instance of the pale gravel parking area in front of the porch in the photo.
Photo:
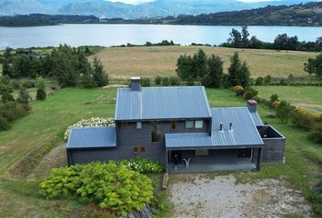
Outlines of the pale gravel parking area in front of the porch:
M288 188L285 181L236 184L233 175L214 179L202 174L193 177L196 179L171 186L173 217L311 217L305 199Z

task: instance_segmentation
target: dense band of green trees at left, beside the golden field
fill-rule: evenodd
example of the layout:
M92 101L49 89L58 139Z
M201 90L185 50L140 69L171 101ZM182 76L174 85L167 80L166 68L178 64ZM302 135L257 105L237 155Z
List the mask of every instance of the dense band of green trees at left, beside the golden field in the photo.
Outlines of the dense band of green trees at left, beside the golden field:
M45 56L31 54L13 54L6 48L2 58L3 75L10 78L44 78L54 79L61 87L84 84L86 88L100 87L108 84L108 74L103 64L96 57L91 64L86 54L88 47L73 48L59 45Z

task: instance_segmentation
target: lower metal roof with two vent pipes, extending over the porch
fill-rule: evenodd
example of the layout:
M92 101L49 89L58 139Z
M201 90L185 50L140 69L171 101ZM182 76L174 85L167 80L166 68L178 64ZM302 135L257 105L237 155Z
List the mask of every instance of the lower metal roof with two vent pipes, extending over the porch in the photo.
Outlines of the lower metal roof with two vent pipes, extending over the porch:
M263 145L247 107L211 109L212 133L166 134L166 148ZM219 125L223 124L222 131ZM229 130L232 124L232 130Z

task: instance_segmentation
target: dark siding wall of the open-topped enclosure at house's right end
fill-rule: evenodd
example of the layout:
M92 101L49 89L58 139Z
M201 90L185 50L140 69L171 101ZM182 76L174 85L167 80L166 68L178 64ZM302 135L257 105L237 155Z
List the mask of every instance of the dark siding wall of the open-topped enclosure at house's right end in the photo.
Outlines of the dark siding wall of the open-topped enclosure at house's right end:
M285 138L263 139L263 163L283 163L284 148L286 144Z

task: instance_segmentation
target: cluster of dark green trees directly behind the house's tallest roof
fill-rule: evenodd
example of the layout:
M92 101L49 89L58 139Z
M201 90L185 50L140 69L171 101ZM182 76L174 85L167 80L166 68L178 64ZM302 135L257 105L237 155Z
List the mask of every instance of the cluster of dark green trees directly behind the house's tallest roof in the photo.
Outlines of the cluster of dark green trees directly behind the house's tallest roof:
M182 54L176 61L176 73L186 84L194 84L199 81L206 87L250 85L250 73L247 63L242 62L239 54L235 53L230 59L230 66L227 74L224 74L222 59L199 49L193 56Z

